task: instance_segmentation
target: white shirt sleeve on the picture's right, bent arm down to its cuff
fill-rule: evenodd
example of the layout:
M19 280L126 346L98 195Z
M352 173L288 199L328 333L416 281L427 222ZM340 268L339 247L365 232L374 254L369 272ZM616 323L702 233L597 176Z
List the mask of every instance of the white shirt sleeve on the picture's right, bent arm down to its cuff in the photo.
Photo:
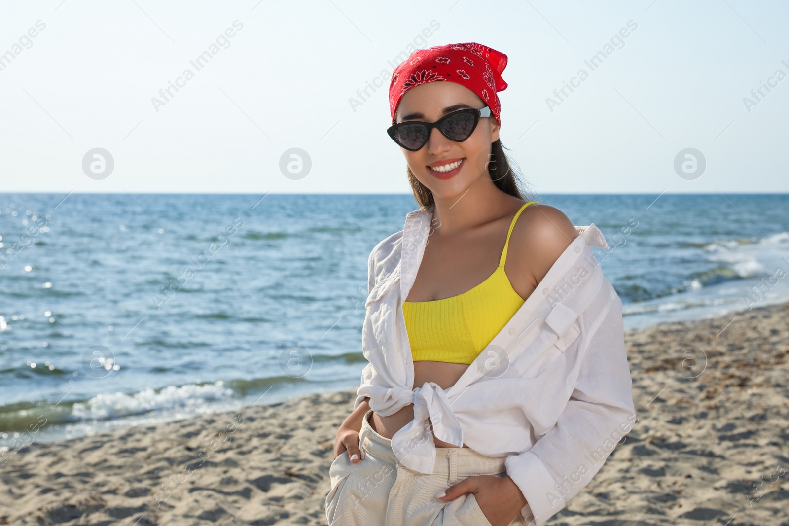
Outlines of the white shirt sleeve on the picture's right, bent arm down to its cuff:
M608 288L608 311L585 327L591 337L567 406L534 446L505 461L507 475L528 502L522 513L537 526L591 481L636 421L622 300Z

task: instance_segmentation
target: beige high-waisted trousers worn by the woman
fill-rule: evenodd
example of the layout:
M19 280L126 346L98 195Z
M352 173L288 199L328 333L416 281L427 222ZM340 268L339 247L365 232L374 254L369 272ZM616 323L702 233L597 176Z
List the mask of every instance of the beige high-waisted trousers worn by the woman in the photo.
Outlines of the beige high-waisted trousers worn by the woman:
M491 526L473 493L447 502L439 501L435 494L469 476L505 476L506 457L488 457L469 448L437 447L432 474L415 472L398 463L391 440L370 426L371 415L372 409L365 413L359 432L364 460L353 464L348 451L343 451L329 468L329 526ZM531 520L531 516L524 520L518 512L509 526L525 526Z

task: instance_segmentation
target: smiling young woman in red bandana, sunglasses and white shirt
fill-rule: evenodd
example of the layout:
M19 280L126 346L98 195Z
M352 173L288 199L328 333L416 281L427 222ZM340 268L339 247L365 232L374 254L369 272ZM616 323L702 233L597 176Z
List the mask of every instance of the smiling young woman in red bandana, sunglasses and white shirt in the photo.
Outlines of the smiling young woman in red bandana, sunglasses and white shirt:
M523 197L499 140L505 65L463 43L394 70L388 132L421 209L368 261L370 363L329 524L544 524L634 422L621 302L589 248L608 245Z

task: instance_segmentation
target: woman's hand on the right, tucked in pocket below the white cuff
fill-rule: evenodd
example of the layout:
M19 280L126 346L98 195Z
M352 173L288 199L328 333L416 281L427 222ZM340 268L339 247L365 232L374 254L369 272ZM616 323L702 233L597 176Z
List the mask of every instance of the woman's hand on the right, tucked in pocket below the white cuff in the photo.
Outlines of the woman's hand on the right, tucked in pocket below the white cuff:
M466 477L454 486L448 487L446 495L439 500L448 502L464 493L474 494L482 513L493 526L507 526L527 504L521 490L509 475Z

